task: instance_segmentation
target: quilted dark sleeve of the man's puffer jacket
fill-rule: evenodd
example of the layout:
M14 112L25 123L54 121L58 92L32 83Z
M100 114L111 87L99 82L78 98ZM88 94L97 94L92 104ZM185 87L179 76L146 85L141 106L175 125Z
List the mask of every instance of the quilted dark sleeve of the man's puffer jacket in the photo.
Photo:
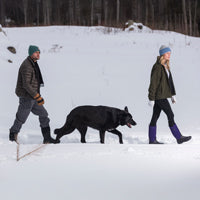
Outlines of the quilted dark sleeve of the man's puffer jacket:
M35 95L38 93L37 90L35 90L31 85L31 79L33 76L33 68L32 66L28 65L26 67L22 68L22 84L23 88L32 96L35 97Z

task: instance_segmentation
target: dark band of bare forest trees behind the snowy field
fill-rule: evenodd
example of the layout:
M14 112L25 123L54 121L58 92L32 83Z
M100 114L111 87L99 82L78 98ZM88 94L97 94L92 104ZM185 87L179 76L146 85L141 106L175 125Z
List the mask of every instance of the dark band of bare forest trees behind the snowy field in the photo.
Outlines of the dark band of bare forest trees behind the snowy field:
M151 28L199 34L200 0L0 0L2 25L119 26L132 19ZM5 24L5 18L11 19Z

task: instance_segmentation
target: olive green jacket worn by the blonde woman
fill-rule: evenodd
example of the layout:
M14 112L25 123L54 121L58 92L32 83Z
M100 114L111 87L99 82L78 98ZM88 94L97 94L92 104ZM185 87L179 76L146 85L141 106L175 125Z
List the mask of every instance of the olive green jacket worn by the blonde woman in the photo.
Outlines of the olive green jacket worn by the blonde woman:
M169 77L165 67L160 63L160 57L154 64L151 71L151 81L149 86L149 100L167 99L176 95L172 74L169 70Z

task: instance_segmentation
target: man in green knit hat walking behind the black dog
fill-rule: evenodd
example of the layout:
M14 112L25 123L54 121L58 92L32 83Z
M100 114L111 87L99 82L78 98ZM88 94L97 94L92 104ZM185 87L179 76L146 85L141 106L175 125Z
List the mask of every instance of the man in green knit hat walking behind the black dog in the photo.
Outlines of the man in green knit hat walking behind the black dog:
M40 87L44 85L37 60L40 59L40 50L37 46L29 46L29 56L21 64L16 86L16 95L19 97L19 107L13 126L10 128L10 141L17 142L17 135L26 122L30 112L39 116L43 143L56 143L51 138L49 118L44 108L44 99L40 95Z

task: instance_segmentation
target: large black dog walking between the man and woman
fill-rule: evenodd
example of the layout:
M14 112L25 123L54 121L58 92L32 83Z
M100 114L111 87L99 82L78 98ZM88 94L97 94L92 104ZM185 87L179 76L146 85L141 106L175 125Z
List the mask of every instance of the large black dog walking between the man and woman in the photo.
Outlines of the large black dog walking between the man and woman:
M91 127L99 130L101 143L104 143L105 132L108 131L118 135L119 143L123 144L122 134L116 129L119 125L127 125L129 128L131 128L131 125L136 125L127 107L120 110L106 106L80 106L70 112L64 126L55 129L54 133L57 135L57 142L59 142L63 135L70 134L78 129L81 134L81 142L86 143L87 127Z

